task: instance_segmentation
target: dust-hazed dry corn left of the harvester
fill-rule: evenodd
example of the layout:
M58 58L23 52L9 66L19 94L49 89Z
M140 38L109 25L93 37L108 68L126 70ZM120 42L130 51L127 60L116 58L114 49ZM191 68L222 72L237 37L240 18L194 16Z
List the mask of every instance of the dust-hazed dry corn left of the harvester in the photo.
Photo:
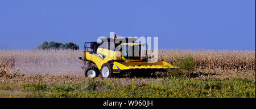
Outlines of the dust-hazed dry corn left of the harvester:
M82 51L74 50L11 50L0 51L0 62L13 64L13 71L40 75L82 74Z

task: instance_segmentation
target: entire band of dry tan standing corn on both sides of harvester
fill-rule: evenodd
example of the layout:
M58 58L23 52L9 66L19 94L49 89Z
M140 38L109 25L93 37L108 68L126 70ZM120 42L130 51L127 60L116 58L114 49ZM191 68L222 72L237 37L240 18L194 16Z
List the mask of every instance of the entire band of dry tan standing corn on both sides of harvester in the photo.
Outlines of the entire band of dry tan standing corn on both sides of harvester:
M192 55L197 69L255 71L255 51L159 50L159 60L173 64L174 57ZM10 50L0 51L1 72L40 75L83 75L82 50ZM9 69L6 69L8 64Z

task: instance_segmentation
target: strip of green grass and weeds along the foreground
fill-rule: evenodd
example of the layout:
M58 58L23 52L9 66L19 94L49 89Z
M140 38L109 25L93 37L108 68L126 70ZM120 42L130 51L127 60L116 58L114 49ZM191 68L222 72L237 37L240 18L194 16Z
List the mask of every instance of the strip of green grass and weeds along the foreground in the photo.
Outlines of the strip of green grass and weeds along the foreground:
M127 85L115 81L76 84L0 84L0 97L253 97L255 81L247 79L156 79Z

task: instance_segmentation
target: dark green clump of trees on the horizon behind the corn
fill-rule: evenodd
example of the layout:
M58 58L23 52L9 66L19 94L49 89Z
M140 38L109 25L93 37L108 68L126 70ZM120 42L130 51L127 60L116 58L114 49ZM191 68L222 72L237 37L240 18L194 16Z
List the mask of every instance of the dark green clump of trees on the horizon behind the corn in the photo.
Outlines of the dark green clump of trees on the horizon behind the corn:
M38 50L79 50L79 46L73 42L61 43L55 41L44 41L37 47Z

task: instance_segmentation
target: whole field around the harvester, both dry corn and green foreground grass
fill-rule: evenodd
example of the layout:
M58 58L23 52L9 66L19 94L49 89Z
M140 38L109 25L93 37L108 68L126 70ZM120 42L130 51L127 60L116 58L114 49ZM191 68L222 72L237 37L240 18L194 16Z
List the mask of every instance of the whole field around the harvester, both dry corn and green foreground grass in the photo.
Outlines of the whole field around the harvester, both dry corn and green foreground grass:
M159 50L159 60L192 55L192 78L84 77L82 51L0 51L0 97L255 97L255 51Z

